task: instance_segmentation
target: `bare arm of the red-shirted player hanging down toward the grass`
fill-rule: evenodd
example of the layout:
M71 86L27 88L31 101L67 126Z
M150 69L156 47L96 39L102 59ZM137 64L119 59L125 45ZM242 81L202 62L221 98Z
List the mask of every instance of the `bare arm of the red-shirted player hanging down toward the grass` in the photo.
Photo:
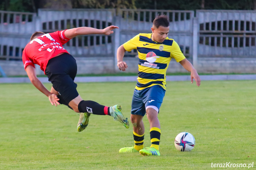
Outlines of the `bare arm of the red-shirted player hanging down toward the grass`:
M44 87L44 85L42 84L42 82L36 77L36 69L35 69L33 66L28 65L25 70L26 70L26 72L27 72L27 74L28 74L28 78L29 78L29 80L31 81L31 83L32 83L39 91L41 91L42 93L44 93L44 95L46 95L46 96L49 98L51 104L52 104L52 105L54 104L55 106L57 106L57 104L60 105L60 103L58 102L60 99L57 97L57 95L55 95L55 94L49 92L49 91L47 90L47 88Z

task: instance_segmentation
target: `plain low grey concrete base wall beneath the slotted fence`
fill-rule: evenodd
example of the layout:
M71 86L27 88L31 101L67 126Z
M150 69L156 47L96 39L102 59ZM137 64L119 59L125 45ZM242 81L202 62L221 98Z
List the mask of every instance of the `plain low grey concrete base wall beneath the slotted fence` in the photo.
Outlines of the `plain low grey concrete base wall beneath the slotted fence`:
M86 57L76 58L78 71L77 74L102 74L121 72L117 70L112 57ZM190 60L190 59L189 59ZM125 58L128 64L126 72L138 72L138 59ZM22 61L3 61L0 60L0 66L7 76L26 75ZM37 74L43 75L39 66L36 65ZM197 71L203 73L256 73L255 58L198 58ZM174 59L167 69L167 72L187 72Z

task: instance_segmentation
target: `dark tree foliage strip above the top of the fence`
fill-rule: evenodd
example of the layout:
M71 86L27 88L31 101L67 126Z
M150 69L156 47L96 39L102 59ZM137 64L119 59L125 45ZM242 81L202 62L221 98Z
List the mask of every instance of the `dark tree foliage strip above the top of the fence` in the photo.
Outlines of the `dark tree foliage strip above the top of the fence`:
M256 10L256 0L1 0L0 10L36 12L38 8L235 9Z

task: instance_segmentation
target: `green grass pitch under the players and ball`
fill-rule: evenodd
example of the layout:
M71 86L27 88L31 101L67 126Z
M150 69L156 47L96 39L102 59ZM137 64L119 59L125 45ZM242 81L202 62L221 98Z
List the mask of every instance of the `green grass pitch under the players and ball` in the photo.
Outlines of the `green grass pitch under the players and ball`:
M130 117L136 82L79 83L85 100L120 104ZM79 116L52 106L32 84L0 84L0 169L248 169L212 168L211 163L249 163L256 169L256 81L203 81L201 86L168 82L160 109L161 156L118 153L133 145L126 129L110 116L90 116L77 132ZM50 84L45 84L50 89ZM149 123L144 117L146 147ZM191 152L180 152L174 138L195 137Z

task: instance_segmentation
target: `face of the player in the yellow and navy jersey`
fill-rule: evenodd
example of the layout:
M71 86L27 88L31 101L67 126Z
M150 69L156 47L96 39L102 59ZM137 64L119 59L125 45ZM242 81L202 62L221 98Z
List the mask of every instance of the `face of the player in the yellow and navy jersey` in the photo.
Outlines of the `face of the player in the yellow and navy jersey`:
M168 36L169 28L170 27L163 27L163 26L159 26L158 28L156 28L155 25L153 25L153 27L151 28L152 40L158 43L162 43Z

